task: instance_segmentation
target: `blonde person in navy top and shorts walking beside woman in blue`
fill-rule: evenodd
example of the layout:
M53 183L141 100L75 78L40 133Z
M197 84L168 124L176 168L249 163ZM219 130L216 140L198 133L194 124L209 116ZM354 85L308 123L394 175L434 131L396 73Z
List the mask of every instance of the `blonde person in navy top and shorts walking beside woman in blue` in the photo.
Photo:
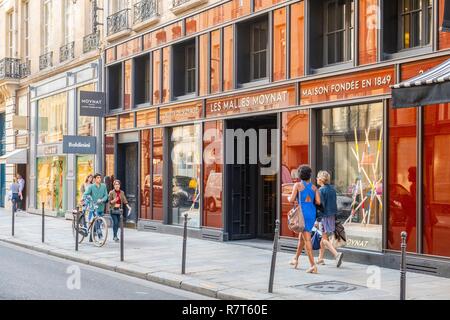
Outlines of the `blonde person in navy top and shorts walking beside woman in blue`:
M330 185L331 176L327 171L319 171L317 174L317 183L320 185L320 201L323 212L320 220L322 240L320 241L319 259L317 264L324 265L325 260L323 256L325 249L328 249L336 259L336 267L342 264L342 253L338 253L336 248L330 241L331 235L336 231L336 215L337 215L337 195L334 186Z

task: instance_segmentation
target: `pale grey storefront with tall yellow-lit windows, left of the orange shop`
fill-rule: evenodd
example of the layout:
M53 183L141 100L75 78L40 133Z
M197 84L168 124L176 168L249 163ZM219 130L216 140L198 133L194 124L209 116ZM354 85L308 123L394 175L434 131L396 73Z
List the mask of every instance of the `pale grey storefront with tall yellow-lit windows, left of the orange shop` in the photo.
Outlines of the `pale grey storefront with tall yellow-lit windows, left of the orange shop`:
M76 207L89 174L102 170L101 148L96 155L63 153L63 137L99 136L101 121L80 116L80 92L99 87L100 63L56 75L30 88L30 211L44 204L49 214L64 216ZM34 137L34 139L33 139ZM99 137L97 145L102 145Z

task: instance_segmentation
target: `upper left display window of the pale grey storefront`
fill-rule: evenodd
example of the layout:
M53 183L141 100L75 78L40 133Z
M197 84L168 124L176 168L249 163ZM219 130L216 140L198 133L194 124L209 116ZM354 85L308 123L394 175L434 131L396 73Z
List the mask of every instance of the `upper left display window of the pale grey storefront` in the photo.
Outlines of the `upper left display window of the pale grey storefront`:
M67 134L67 93L63 92L39 101L38 143L63 140Z

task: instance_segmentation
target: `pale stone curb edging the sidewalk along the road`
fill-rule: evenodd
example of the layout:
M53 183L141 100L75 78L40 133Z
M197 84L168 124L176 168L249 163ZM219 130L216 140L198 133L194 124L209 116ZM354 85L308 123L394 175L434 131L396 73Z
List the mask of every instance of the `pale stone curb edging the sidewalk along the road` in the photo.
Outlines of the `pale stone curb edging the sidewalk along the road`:
M14 246L22 247L28 250L43 253L49 256L81 263L97 267L100 269L113 271L116 273L124 274L134 278L158 283L161 285L173 287L176 289L182 289L188 292L193 292L208 296L214 299L221 300L252 300L252 299L271 299L276 297L274 294L264 294L253 291L241 290L236 288L227 287L214 282L208 282L189 276L174 274L169 272L148 272L144 271L144 268L134 265L127 265L126 262L118 262L116 265L111 265L106 262L105 259L89 259L87 256L77 257L70 255L65 249L51 250L51 248L45 249L42 244L30 245L22 241L12 240L10 238L0 238L1 242L8 243Z

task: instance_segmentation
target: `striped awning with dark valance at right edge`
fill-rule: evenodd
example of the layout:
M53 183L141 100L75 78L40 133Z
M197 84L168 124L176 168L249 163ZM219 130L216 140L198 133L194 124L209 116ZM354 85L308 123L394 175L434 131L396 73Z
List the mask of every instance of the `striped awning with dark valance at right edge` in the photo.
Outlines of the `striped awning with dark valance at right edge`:
M394 108L450 102L450 59L407 81L392 86Z

